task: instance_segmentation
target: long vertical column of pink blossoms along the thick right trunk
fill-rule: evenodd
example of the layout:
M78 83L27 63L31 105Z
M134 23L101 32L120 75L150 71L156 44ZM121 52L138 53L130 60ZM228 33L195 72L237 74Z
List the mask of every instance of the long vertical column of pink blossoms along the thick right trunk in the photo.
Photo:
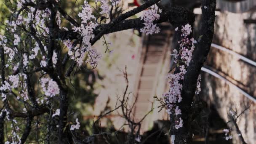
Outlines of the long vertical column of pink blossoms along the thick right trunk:
M175 30L178 31L178 28L176 28ZM168 84L170 89L167 93L163 94L163 98L165 100L165 103L167 104L166 111L168 112L169 115L173 114L173 118L175 119L176 122L176 129L179 129L183 126L183 120L180 117L181 109L179 109L178 104L182 101L182 81L184 80L184 76L187 73L187 67L189 66L189 62L192 59L192 53L195 49L195 40L193 38L188 38L191 32L192 29L189 24L182 26L181 40L179 40L178 42L179 52L176 49L173 51L174 62L177 64L176 67L179 68L179 72L176 72L175 74L168 74ZM197 80L197 94L201 91L200 79L201 77L199 76Z

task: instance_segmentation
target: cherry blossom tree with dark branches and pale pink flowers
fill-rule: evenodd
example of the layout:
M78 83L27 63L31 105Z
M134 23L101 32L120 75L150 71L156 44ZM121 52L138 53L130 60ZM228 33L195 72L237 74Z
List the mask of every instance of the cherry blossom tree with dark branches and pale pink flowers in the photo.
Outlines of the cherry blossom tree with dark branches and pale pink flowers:
M158 100L170 115L173 144L191 144L190 123L195 116L192 101L200 91L199 73L213 39L215 0L202 0L203 23L198 39L192 38L194 14L175 3L165 9L160 0L147 0L121 13L121 0L94 0L94 5L85 0L79 19L75 19L61 8L61 2L17 0L10 8L6 31L0 35L0 143L24 144L33 133L34 122L37 127L43 125L38 117L46 125L40 133L47 143L87 143L78 136L80 120L69 109L67 82L72 72L85 66L97 67L101 56L111 52L104 35L132 28L151 35L160 31L157 24L169 21L176 28L179 45L173 51L176 70L168 75L170 90ZM128 19L141 11L140 18ZM63 21L72 29L61 27ZM101 37L106 46L103 54L92 47ZM32 83L35 78L37 85ZM22 107L14 109L17 103ZM56 133L58 140L51 139L51 133Z

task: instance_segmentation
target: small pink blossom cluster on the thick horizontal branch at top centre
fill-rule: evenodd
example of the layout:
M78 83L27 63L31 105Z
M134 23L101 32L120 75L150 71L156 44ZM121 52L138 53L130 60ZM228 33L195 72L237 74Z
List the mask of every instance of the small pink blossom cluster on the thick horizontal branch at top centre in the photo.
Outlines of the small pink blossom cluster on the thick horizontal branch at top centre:
M144 20L144 27L140 29L141 32L146 33L146 35L152 35L153 33L159 33L160 28L157 26L157 24L154 24L153 22L158 20L160 18L160 15L158 13L161 13L162 11L157 7L157 5L152 5L147 11L143 13L141 16L141 20Z

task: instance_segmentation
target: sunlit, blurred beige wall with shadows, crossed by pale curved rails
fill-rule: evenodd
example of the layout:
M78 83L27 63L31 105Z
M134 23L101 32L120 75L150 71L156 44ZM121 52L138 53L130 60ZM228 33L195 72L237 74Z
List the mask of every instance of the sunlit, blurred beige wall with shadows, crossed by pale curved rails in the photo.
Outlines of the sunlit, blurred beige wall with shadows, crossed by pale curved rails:
M256 13L224 12L217 16L213 43L256 61L256 24L245 24L244 19L256 19ZM251 96L256 96L256 67L216 48L211 48L206 65L221 71L239 83ZM244 107L251 104L250 110L247 110L237 123L245 141L248 144L256 144L256 104L235 87L204 72L202 74L204 76L204 88L201 95L209 103L215 105L226 122L228 121L227 112L229 109L237 108L238 113L240 113ZM237 134L235 132L232 134L233 143L241 144Z

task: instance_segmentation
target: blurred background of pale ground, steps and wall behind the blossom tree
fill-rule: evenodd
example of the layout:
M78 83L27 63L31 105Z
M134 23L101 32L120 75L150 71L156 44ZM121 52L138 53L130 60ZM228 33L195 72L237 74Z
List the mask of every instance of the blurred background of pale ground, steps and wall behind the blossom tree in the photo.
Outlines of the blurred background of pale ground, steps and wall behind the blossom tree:
M177 5L195 13L194 37L200 37L200 0L176 0ZM93 2L90 2L93 5ZM123 0L123 9L128 11L143 3L143 0ZM9 0L0 1L1 33L3 21L10 16ZM83 0L63 0L62 7L69 16L78 19ZM224 139L230 109L237 113L246 110L237 120L240 131L248 144L256 144L256 0L217 0L215 35L211 52L202 69L202 92L195 99L202 100L204 108L193 122L195 144L240 144L236 132L233 139ZM125 12L123 11L123 12ZM132 18L139 17L141 13ZM71 29L63 21L63 27ZM165 109L159 112L160 104L154 96L161 97L167 91L166 76L172 66L171 53L174 28L168 22L159 24L158 34L146 36L138 29L129 29L106 36L111 43L111 53L103 54L96 69L80 69L69 85L74 93L71 109L81 121L85 135L92 133L93 120L114 109L117 97L125 91L123 72L127 67L130 92L129 103L135 103L133 116L144 119L140 134L148 138L145 144L169 144L168 115ZM99 40L93 47L104 53ZM19 105L16 105L19 107ZM154 109L152 109L154 108ZM120 109L101 119L99 128L124 128L119 136L125 136L128 127ZM150 137L148 137L150 136ZM102 138L103 139L103 138ZM112 143L118 143L115 139ZM99 143L106 143L104 140Z

